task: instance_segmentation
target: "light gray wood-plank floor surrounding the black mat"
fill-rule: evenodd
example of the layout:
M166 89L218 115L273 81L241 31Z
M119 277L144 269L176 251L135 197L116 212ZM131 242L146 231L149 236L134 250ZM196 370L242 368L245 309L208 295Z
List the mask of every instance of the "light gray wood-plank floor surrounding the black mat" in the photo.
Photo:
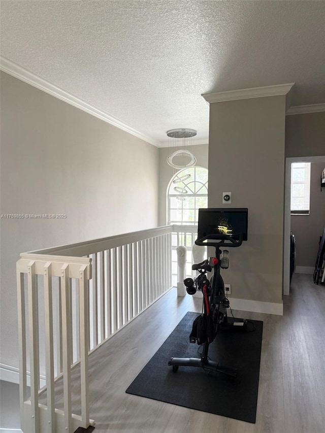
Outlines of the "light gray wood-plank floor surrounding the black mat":
M200 299L177 297L172 289L91 354L90 417L96 433L325 431L325 286L314 285L311 275L295 274L283 316L234 311L264 321L256 424L125 393L187 311L201 311Z

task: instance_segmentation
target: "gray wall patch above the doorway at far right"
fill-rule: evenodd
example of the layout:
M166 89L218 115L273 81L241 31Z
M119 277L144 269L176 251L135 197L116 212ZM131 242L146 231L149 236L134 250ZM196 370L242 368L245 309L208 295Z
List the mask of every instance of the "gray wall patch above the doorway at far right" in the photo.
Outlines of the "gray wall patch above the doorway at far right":
M325 112L285 118L285 157L325 155Z

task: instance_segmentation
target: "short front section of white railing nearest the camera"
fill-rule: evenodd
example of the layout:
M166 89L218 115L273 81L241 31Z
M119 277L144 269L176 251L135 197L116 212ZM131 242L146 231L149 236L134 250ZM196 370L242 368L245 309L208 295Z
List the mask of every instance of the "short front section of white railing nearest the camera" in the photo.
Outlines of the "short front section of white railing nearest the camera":
M42 276L43 281L38 276ZM52 280L60 281L61 348L64 392L64 411L54 404L54 350ZM91 260L40 254L21 254L17 262L20 410L24 432L54 433L75 431L78 426L93 424L88 404L88 317L87 281L91 278ZM71 405L71 280L79 282L79 341L81 370L81 416L72 414ZM39 403L40 393L40 323L39 286L44 290L45 356L47 406ZM27 320L26 320L27 314ZM29 350L27 350L29 348ZM30 364L30 398L27 398L27 355ZM60 372L61 373L61 372Z

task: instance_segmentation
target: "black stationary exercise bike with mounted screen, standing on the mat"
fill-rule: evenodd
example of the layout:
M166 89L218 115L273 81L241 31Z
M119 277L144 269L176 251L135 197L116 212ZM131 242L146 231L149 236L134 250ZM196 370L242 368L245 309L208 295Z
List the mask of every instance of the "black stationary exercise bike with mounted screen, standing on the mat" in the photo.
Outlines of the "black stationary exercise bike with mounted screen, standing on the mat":
M236 236L225 234L225 231L232 232L233 229L228 229L225 225L207 224L212 217L218 217L221 214L222 223L224 224L225 213L235 218L232 220L232 227L236 218L241 218L241 224L237 224L241 231L237 231ZM218 220L218 218L217 218ZM201 221L201 223L200 223ZM202 229L203 228L203 229ZM213 230L212 230L213 228ZM208 230L208 235L206 234ZM211 233L210 233L211 231ZM203 235L202 238L200 238ZM215 247L215 257L212 258L213 276L209 280L207 272L212 271L212 266L209 260L204 260L201 263L192 265L193 271L198 271L199 275L193 280L186 278L184 284L188 294L193 295L197 290L203 293L203 312L194 322L190 334L190 343L203 344L203 351L200 354L201 358L177 358L172 357L168 365L172 365L173 371L177 372L181 367L201 367L205 370L216 371L228 375L232 378L237 376L237 369L221 365L219 362L210 360L208 357L209 346L216 337L220 326L232 327L234 325L245 326L246 320L236 319L232 323L228 322L227 308L230 307L229 300L225 296L224 283L220 274L220 269L227 269L229 266L228 250L222 252L220 247L234 248L239 247L243 240L247 240L247 209L200 209L199 210L199 226L198 239L196 245L213 246Z

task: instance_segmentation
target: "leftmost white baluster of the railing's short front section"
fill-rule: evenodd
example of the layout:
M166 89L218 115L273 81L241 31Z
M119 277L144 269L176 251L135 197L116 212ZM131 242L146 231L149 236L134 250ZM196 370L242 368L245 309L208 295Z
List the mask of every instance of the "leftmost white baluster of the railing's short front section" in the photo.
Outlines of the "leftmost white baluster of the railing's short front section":
M17 302L18 302L18 342L19 342L19 403L20 419L23 419L23 406L27 398L26 380L26 316L24 274L17 263Z

